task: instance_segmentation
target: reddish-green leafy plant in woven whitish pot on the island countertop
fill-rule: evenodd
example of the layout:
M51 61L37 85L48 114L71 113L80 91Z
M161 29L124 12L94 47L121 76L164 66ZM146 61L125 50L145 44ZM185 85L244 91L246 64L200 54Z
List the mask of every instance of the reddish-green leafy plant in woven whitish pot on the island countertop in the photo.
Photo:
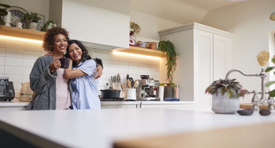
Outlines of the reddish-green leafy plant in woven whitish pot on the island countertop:
M216 113L235 114L240 109L239 97L249 94L242 89L236 79L219 79L207 87L205 93L213 95L212 111Z

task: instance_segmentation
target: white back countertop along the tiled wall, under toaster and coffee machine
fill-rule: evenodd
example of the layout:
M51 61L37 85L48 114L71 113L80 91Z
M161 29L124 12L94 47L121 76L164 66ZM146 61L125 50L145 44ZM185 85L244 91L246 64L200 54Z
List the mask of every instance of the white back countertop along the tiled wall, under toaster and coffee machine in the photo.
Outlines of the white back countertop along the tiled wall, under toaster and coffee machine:
M194 101L101 101L101 105L194 104ZM29 101L0 101L0 106L28 106Z

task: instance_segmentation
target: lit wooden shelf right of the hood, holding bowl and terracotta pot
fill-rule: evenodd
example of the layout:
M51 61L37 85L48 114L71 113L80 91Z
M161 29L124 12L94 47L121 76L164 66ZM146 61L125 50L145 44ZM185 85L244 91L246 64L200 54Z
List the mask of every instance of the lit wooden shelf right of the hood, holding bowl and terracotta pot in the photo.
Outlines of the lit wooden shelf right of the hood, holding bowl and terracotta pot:
M141 54L145 56L154 56L154 57L166 57L166 52L162 53L162 51L159 50L152 50L147 48L141 48L141 47L134 47L130 46L127 49L119 50L120 52L124 53L133 53L133 54Z

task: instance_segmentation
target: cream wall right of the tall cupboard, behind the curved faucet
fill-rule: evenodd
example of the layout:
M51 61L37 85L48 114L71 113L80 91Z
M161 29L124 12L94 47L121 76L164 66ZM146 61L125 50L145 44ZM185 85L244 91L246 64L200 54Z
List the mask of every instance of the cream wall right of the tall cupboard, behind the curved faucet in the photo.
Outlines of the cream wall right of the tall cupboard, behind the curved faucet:
M259 66L256 56L262 50L271 49L269 31L275 29L275 22L271 21L269 16L275 10L274 5L274 0L249 0L218 8L206 14L201 24L234 34L232 37L232 68L240 69L245 73L260 73L262 67ZM274 50L274 47L272 49ZM263 68L267 67L268 65ZM248 91L255 89L258 92L261 91L259 77L244 77L233 72L231 78L236 78ZM266 77L266 82L268 81L269 74ZM266 88L266 91L269 91L269 88ZM240 99L240 102L250 103L252 96L246 96ZM258 97L261 96L258 95Z

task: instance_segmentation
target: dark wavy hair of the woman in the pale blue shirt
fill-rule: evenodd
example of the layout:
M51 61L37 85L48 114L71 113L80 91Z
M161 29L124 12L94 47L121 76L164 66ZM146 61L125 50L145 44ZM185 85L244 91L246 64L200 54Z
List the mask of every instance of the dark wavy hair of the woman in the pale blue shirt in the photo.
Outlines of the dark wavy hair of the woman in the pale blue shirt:
M89 52L87 50L87 48L83 45L83 43L79 40L69 40L68 42L68 46L67 46L67 52L66 52L66 56L70 57L69 55L69 47L70 45L72 45L73 43L76 43L78 45L78 47L82 50L82 55L81 55L81 62L84 62L86 60L91 60L92 57L89 55ZM92 55L93 56L93 55ZM72 58L72 57L71 57ZM76 61L73 61L73 67L76 67Z

